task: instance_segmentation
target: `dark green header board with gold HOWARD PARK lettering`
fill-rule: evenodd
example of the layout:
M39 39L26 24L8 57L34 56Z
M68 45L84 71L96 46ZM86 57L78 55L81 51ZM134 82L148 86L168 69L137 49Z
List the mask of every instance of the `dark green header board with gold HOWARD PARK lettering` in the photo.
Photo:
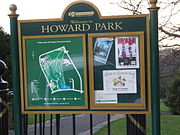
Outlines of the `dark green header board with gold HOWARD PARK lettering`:
M74 18L69 18L66 21L21 23L21 34L24 36L34 36L146 31L146 17L113 19L83 18L83 21L81 19L77 18L74 20Z

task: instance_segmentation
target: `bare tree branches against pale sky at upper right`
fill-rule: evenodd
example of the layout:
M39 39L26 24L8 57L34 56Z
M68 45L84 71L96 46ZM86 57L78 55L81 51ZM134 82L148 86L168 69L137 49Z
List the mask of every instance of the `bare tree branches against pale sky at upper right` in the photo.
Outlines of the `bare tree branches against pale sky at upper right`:
M118 5L125 14L149 13L148 0L116 0L111 4ZM163 47L180 47L180 24L177 20L180 12L180 0L158 0L159 10L159 45ZM122 13L122 12L120 12Z

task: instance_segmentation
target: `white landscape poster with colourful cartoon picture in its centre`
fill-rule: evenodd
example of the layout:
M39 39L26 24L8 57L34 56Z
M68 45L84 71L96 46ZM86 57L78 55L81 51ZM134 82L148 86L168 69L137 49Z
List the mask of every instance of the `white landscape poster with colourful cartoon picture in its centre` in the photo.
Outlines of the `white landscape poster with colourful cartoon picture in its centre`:
M106 93L137 93L136 70L104 70L103 87Z

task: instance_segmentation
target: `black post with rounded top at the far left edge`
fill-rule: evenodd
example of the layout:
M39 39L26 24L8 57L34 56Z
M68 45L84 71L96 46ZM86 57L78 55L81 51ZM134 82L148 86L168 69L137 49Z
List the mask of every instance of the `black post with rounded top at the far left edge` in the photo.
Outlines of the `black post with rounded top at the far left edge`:
M8 135L7 92L8 82L2 79L6 64L0 60L0 135Z

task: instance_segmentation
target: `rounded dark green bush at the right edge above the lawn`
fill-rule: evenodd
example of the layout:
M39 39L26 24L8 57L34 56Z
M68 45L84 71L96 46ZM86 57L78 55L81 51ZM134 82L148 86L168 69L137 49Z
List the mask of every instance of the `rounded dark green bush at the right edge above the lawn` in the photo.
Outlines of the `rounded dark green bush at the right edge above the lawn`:
M180 75L175 76L169 83L166 91L165 104L172 114L180 114Z

